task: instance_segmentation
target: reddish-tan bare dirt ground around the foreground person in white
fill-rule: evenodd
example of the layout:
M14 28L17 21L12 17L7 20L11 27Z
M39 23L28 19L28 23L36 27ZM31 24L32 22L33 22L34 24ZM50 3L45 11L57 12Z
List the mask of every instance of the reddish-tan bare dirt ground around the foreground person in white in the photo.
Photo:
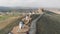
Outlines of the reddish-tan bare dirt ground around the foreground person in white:
M20 30L20 32L17 32L18 29L19 29L19 26L15 26L11 32L13 34L26 34L26 32L29 31L28 25L25 25L24 28Z

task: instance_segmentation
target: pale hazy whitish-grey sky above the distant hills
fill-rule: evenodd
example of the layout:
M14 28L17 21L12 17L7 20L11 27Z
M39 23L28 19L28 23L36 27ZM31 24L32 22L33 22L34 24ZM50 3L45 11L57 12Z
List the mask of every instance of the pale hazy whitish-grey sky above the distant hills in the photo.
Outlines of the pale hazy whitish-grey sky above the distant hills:
M56 7L56 8L60 8L60 0L0 0L0 6Z

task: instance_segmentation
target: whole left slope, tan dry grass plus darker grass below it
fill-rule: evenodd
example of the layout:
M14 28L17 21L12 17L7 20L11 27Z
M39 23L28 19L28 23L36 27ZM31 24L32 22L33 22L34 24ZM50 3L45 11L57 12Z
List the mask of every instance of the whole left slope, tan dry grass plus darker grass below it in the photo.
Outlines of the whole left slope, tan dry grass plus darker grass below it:
M0 34L7 34L12 30L15 25L18 25L21 17L11 17L4 22L0 23Z

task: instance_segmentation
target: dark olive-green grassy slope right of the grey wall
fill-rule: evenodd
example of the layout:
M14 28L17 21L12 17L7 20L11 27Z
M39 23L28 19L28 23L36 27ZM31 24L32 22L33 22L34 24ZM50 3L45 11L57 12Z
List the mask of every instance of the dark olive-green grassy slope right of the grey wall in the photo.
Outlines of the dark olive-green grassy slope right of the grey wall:
M60 34L60 15L46 13L37 21L36 34Z

